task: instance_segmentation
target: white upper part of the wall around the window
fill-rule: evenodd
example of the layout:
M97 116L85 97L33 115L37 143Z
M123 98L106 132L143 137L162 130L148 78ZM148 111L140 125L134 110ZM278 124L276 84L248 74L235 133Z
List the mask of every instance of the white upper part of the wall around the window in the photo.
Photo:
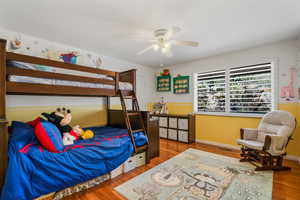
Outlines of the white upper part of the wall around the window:
M193 62L173 65L164 68L169 68L173 77L177 74L190 75L192 88L192 76L195 72L213 71L218 69L225 69L227 67L238 67L275 61L279 69L279 78L277 78L276 82L278 84L278 88L280 89L282 86L287 85L289 82L289 68L297 66L297 42L297 40L285 40L259 46L256 48L207 57ZM199 48L201 48L201 46ZM157 72L159 71L162 71L162 69L159 69ZM175 95L172 92L156 93L157 100L158 97L163 96L168 102L193 102L192 89L189 94ZM285 99L280 99L280 97L278 98L279 103L286 101ZM294 99L293 101L296 101L296 99Z

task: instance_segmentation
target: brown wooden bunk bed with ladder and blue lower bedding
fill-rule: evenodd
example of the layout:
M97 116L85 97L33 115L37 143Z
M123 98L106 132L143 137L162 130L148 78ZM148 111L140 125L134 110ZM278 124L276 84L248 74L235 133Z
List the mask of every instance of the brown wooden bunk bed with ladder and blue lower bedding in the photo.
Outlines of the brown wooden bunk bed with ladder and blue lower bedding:
M32 66L32 64L53 67L59 70L36 70L30 67ZM60 72L68 70L71 70L71 73ZM6 40L0 39L0 77L1 189L4 188L5 185L7 185L7 182L5 182L6 184L3 186L5 175L6 177L10 176L10 179L16 179L16 176L21 173L20 171L24 171L24 169L21 168L11 169L12 167L18 167L18 164L20 164L19 162L23 162L24 160L26 160L26 162L29 162L29 164L25 172L22 172L22 174L20 174L20 177L24 178L25 176L28 176L28 174L26 173L32 173L29 177L31 180L17 181L17 183L11 181L8 184L19 184L18 189L22 191L18 192L24 193L23 197L25 199L25 197L36 198L39 195L43 195L49 192L55 192L66 187L79 184L80 182L99 177L118 167L118 165L124 162L129 156L138 152L147 153L148 139L142 118L140 118L141 125L139 125L139 128L136 130L134 130L133 128L133 126L135 125L132 126L132 120L129 119L129 116L141 116L141 112L139 111L137 99L135 96L135 69L125 72L114 72L110 70L97 69L87 66L48 60L39 57L16 54L7 52ZM61 153L51 153L43 150L41 146L35 145L36 143L34 143L34 136L32 136L31 139L25 139L31 141L30 144L27 143L27 147L28 145L32 145L30 149L25 146L23 147L25 148L23 150L16 150L16 147L20 145L18 144L18 140L21 136L9 136L10 132L12 132L11 134L14 134L14 131L16 132L17 130L20 132L20 130L23 129L28 129L28 131L30 131L30 127L28 127L28 125L25 123L16 122L14 124L15 129L13 129L12 131L8 131L5 102L7 94L105 97L107 100L106 102L108 115L110 97L120 97L124 121L126 122L126 129L113 127L94 127L94 140L79 141L72 146L67 146ZM134 110L134 112L126 109L124 99L127 99L129 97L132 98L132 109ZM110 124L109 116L108 124ZM124 127L124 124L120 126ZM9 137L10 144L8 144ZM89 151L92 153L86 155L85 153ZM104 151L109 151L109 153L105 154L103 153ZM26 155L24 154L24 152L26 153ZM19 153L23 154L19 158L17 158L17 161L15 161L15 165L8 165L8 154L9 158L11 159L11 154ZM30 157L30 159L26 156ZM64 156L68 157L68 159L65 159ZM72 162L70 162L70 159ZM13 162L11 160L9 162ZM50 160L50 162L45 162L45 160ZM93 162L91 160L93 160ZM96 162L98 160L100 164L104 163L104 166L102 168L100 166L98 167L99 163ZM55 161L56 163L51 164L52 161ZM34 164L30 162L34 162ZM87 166L84 166L84 162L87 163ZM95 165L95 162L97 165ZM149 160L147 160L147 162L149 162ZM73 166L70 163L72 163ZM74 166L74 163L77 163L77 165ZM31 168L34 168L36 166L44 167L45 171L48 171L48 174L42 172L33 172ZM58 168L58 170L55 171L56 168ZM63 168L67 169L63 170ZM68 168L72 168L72 170ZM80 171L83 169L85 170L85 168L89 170L85 172ZM43 171L41 167L35 169ZM14 170L16 173L12 174ZM34 183L35 186L33 186L32 181L36 181ZM42 183L48 184L47 187L40 187L39 184L42 185ZM22 186L22 184L24 184L25 186ZM26 186L26 184L28 186ZM28 192L25 191L23 187L25 189L26 187L34 188L27 188L27 190L29 190ZM8 191L6 193L9 192L11 191ZM6 195L9 196L9 194Z

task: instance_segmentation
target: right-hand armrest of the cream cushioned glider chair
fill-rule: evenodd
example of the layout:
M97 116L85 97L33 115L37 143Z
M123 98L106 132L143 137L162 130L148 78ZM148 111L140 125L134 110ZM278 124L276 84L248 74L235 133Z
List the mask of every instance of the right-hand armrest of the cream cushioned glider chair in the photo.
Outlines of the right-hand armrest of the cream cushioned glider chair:
M285 152L286 137L280 135L266 135L264 150L272 155L278 155Z

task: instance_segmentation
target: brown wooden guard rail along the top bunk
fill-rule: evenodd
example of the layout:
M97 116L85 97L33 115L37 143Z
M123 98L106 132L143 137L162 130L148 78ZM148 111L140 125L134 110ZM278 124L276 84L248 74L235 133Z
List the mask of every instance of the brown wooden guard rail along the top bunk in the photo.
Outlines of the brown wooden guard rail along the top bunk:
M49 60L39 57L22 55L12 52L6 52L6 40L0 40L1 54L0 60L3 63L1 70L4 70L6 77L6 93L8 94L33 94L33 95L62 95L62 96L118 96L119 81L129 82L135 91L135 76L136 70L129 70L126 72L114 72L110 70L92 68L77 64L64 63L55 60ZM16 67L7 67L9 61L18 61L36 65L49 66L54 68L61 68L64 70L72 70L77 72L84 72L93 75L105 75L111 77L112 80L105 78L94 78L85 75L63 74L49 71L38 71L30 69L21 69ZM63 81L78 81L92 84L104 84L113 86L111 88L93 88L93 87L79 87L79 86L64 86L64 85L47 85L38 83L24 83L9 81L8 76L27 76L33 78L44 78Z

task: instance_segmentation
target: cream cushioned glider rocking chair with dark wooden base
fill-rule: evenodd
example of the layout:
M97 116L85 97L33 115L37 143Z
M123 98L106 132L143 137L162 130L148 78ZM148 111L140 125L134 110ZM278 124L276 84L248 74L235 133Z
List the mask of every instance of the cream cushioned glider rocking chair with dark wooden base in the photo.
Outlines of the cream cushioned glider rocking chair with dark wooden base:
M289 170L283 167L286 147L296 127L295 117L286 111L272 111L261 120L257 129L242 128L241 162L251 162L256 170ZM259 165L258 165L259 164Z

